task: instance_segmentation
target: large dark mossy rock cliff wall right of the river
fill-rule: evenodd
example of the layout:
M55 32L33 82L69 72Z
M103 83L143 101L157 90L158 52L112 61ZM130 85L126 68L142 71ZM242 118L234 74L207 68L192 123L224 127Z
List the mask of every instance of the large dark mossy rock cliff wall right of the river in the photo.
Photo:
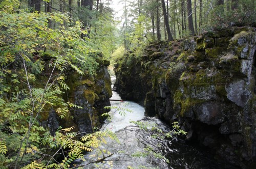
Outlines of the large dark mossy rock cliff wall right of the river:
M158 42L115 66L114 89L148 116L178 120L187 140L241 168L256 160L255 30L233 27ZM254 163L255 165L255 163Z

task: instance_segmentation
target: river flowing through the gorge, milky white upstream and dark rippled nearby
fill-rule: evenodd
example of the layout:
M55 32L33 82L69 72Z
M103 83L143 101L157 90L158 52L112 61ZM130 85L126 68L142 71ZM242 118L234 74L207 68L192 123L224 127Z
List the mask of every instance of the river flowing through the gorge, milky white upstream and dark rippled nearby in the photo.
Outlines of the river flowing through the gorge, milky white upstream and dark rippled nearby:
M121 98L113 91L111 99ZM101 130L112 130L119 142L106 138L106 144L102 143L100 149L105 154L104 157L110 157L105 158L104 162L85 165L84 168L229 168L218 163L206 150L189 145L182 139L154 138L152 130L146 131L131 124L130 121L139 120L148 126L157 124L164 132L171 130L156 117L145 117L144 108L139 104L132 101L111 101L111 105L126 105L124 108L133 112L126 112L125 116L121 116L116 110L111 110L112 113L115 112L114 116L111 122L105 122ZM97 151L88 153L85 157L87 161L83 164L95 161L98 159ZM104 158L102 154L99 157Z

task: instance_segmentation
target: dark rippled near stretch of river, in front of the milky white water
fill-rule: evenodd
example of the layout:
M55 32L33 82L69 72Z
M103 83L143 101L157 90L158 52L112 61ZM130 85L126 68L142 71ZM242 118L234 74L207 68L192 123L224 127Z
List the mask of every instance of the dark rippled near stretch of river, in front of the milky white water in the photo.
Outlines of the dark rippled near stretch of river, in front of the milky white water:
M166 126L157 118L143 118L140 122L147 124L157 124L159 129L168 132L170 127ZM119 142L107 139L106 144L101 144L101 150L108 150L112 154L106 158L105 163L89 164L95 160L95 156L87 154L84 168L236 168L232 165L220 163L201 147L187 144L183 140L174 137L154 138L156 134L152 130L143 130L137 125L127 126L116 131ZM158 154L157 154L158 153ZM97 154L93 152L92 154ZM161 154L161 156L160 156ZM105 155L106 157L106 155ZM165 158L163 158L165 157ZM102 154L99 156L103 158ZM113 161L111 161L113 160ZM167 160L169 162L167 162ZM108 163L111 161L111 163ZM88 165L87 165L88 164ZM113 165L110 166L109 164Z

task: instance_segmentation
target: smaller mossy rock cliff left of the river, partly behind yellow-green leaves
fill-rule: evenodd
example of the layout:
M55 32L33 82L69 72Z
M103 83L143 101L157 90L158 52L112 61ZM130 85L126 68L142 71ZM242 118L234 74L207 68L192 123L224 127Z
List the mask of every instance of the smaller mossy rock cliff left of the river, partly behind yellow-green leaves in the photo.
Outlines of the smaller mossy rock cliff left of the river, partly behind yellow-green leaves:
M101 115L105 106L110 106L112 97L111 78L108 72L109 61L98 60L99 68L95 76L79 75L71 71L66 83L70 90L63 94L62 98L82 108L71 108L64 119L52 109L49 115L40 118L42 126L49 127L54 134L59 126L75 127L80 133L92 133L94 127L99 127L103 122Z

